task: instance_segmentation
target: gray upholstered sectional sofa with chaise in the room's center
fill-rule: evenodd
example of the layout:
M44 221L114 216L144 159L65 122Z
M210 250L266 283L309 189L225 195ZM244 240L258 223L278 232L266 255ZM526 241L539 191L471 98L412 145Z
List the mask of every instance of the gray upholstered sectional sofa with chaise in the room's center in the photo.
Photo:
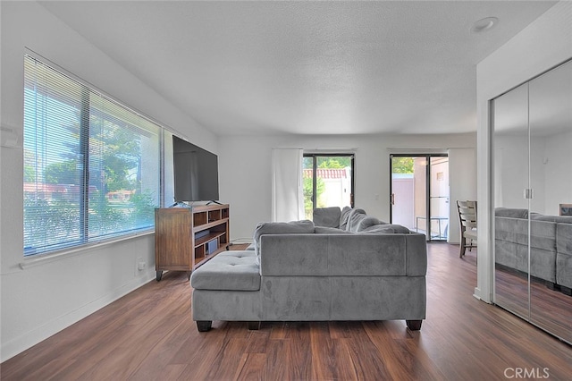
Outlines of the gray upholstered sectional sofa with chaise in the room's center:
M337 216L337 218L335 217ZM425 235L360 209L316 209L315 221L258 224L254 250L225 251L191 275L199 331L213 320L425 319Z

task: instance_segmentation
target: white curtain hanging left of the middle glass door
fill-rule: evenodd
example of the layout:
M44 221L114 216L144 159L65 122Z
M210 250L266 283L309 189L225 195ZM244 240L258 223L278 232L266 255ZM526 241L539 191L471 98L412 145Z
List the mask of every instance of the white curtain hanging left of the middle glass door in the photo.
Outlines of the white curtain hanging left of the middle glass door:
M272 221L297 221L304 216L301 148L272 150Z

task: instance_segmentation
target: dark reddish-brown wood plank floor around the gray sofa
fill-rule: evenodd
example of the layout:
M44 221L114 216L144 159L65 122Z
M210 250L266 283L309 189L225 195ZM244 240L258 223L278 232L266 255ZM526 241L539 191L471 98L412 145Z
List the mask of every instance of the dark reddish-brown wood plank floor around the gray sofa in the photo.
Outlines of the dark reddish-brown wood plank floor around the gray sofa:
M475 251L429 245L427 318L214 322L199 334L184 273L166 273L1 365L3 380L569 380L572 348L477 301ZM521 370L518 370L521 369ZM532 372L532 373L531 373ZM522 377L519 377L522 379Z

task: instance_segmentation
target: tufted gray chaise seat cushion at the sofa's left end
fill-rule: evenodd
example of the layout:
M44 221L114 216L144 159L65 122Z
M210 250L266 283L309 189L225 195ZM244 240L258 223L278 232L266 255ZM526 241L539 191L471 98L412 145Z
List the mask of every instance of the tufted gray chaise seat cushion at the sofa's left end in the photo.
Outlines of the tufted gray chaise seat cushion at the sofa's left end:
M198 267L190 285L198 290L260 290L260 270L252 250L224 251Z

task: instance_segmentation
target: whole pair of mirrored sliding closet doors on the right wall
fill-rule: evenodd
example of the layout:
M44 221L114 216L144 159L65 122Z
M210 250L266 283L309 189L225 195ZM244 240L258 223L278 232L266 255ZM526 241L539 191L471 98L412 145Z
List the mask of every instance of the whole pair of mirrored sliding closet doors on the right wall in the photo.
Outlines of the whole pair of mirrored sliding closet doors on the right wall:
M572 343L572 62L492 110L494 301Z

